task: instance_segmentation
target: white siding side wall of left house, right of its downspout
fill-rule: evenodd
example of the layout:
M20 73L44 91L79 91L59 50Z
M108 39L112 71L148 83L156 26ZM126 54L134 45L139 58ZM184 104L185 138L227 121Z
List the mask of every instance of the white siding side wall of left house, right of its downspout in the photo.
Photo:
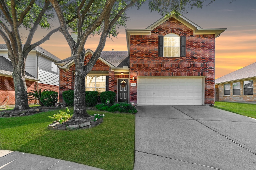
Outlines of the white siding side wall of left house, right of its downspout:
M59 86L59 69L57 69L57 73L51 71L50 59L39 56L38 67L38 79L40 80L39 83Z

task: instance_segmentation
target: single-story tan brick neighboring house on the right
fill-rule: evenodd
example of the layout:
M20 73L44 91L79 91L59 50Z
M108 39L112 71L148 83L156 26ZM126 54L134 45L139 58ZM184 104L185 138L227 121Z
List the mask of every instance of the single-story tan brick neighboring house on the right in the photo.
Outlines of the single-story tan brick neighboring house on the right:
M256 62L215 80L217 101L256 102Z

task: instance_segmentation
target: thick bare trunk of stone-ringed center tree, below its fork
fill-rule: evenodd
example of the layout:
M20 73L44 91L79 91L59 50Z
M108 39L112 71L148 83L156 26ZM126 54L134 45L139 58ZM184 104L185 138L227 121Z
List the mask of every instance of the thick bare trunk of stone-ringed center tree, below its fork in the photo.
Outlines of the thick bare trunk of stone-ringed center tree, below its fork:
M90 115L86 112L85 103L85 77L86 72L83 64L76 64L76 75L74 83L74 114L73 120L83 120Z

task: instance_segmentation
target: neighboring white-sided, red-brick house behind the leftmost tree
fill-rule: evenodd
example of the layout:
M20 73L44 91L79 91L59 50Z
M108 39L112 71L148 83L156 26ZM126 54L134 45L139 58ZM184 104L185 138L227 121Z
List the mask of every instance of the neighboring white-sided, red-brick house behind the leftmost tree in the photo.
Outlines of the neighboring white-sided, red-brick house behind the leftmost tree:
M6 45L0 44L0 55L2 56L0 58L1 62L4 61L3 58L9 61L8 67L7 66L5 67L3 63L2 63L2 67L0 67L1 82L3 80L6 81L6 79L9 81L9 83L7 83L8 86L6 86L5 83L0 84L0 105L7 96L9 96L9 100L6 104L15 104L14 84L12 79L13 68L7 53L8 53L8 50ZM26 75L28 74L28 77L26 77L26 80L33 81L33 83L35 83L33 86L35 87L33 88L31 87L30 84L32 82L30 83L26 82L28 91L32 89L38 90L42 88L42 89L51 89L59 92L59 69L54 64L57 61L60 61L58 57L49 53L47 50L39 46L35 47L33 50L29 52L26 60L26 66L25 66L25 71L27 72ZM5 62L5 64L6 63L7 62ZM6 93L6 90L3 90L6 88L8 93Z

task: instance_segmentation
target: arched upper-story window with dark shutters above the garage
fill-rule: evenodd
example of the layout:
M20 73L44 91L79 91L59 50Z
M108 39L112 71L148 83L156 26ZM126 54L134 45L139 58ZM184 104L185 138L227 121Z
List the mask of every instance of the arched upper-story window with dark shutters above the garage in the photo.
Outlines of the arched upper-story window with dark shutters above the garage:
M185 57L186 36L169 33L165 36L158 36L159 57Z

